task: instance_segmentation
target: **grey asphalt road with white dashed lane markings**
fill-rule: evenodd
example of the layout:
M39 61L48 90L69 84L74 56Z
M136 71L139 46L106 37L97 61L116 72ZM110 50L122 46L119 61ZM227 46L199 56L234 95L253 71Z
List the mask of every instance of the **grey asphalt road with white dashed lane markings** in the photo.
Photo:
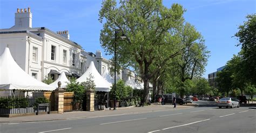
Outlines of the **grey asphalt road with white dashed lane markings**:
M256 109L199 107L60 121L1 123L0 132L252 132ZM202 106L200 106L202 105ZM208 105L208 106L207 106ZM179 107L179 106L178 106Z

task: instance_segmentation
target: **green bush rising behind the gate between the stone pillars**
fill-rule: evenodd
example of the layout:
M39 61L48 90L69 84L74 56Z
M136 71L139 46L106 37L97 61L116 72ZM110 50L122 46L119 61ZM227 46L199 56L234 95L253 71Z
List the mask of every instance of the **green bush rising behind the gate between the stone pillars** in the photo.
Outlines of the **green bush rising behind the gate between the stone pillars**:
M84 84L85 83L80 84L79 82L76 82L75 78L71 78L70 83L66 85L66 91L74 92L75 102L80 102L83 100L83 96L85 93Z

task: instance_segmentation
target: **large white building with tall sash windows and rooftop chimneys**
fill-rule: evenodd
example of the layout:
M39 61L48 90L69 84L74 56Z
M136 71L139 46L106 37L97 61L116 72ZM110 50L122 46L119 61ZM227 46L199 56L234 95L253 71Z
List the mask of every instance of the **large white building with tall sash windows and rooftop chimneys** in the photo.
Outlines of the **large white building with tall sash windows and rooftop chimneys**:
M38 80L48 75L57 79L62 71L75 77L85 71L86 56L81 54L81 46L69 40L69 32L33 28L29 8L17 9L15 25L0 29L0 54L5 47L18 65Z

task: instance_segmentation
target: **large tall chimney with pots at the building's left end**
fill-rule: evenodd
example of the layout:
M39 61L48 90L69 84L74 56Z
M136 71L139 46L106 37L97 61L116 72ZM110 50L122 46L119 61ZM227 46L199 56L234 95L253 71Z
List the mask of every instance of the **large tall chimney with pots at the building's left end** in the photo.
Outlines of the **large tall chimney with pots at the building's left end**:
M32 28L32 13L30 12L30 8L24 9L17 9L15 13L15 26L12 28L19 28L19 29L26 29Z

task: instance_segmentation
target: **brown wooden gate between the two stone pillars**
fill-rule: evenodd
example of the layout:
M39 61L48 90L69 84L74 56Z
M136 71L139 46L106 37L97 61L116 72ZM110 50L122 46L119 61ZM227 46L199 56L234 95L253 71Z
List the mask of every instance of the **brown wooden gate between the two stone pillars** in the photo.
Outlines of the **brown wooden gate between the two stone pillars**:
M64 112L72 112L73 110L73 93L64 93Z

